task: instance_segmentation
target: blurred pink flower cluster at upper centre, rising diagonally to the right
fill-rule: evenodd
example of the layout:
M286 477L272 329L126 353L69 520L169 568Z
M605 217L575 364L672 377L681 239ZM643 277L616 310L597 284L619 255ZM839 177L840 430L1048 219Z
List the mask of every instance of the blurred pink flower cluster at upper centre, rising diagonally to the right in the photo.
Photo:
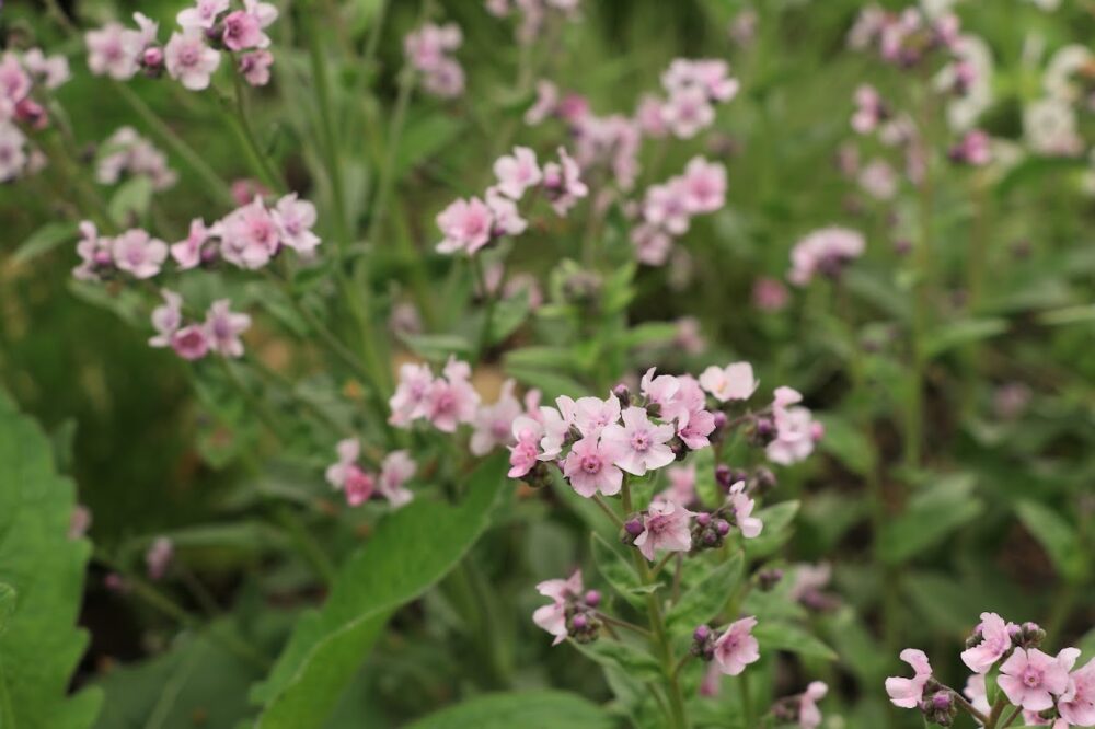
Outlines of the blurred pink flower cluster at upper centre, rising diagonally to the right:
M511 155L499 158L494 164L497 183L487 188L485 201L479 197L456 200L438 213L437 225L443 239L437 250L473 254L505 235L520 235L528 221L517 204L530 189L542 192L555 212L565 216L589 190L581 182L578 163L562 147L558 158L558 162L548 162L543 169L528 147L517 147Z

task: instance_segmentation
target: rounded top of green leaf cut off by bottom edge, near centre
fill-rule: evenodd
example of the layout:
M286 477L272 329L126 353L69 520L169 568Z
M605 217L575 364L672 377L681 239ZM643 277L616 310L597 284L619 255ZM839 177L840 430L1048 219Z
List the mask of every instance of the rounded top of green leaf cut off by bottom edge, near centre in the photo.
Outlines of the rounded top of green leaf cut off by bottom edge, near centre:
M430 714L408 729L612 729L604 709L577 694L519 691L476 696Z

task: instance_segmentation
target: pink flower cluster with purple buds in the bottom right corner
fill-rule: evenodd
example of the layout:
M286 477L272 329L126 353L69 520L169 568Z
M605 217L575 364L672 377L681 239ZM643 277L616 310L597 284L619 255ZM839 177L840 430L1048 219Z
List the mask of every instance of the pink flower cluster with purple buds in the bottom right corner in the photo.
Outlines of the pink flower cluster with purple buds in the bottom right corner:
M963 662L973 671L964 693L969 702L940 683L927 656L908 648L901 660L912 667L911 679L886 679L886 693L902 708L919 708L930 721L950 726L958 708L979 721L991 710L986 676L995 672L1003 697L1023 711L1024 724L1050 725L1053 729L1095 725L1095 660L1073 671L1080 658L1076 648L1057 656L1039 649L1046 633L1034 623L1007 623L995 613L981 613L981 623L966 641ZM999 715L999 711L996 711Z

